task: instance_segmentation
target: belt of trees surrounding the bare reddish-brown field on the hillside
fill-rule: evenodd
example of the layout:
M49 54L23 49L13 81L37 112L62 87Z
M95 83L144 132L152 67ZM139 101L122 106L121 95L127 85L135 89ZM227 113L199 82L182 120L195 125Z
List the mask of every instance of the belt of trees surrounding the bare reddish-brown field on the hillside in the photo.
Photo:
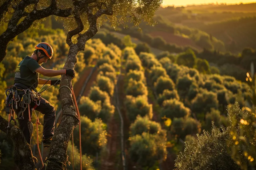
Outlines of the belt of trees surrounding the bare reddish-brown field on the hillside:
M148 43L154 48L169 51L171 53L179 53L192 47L178 47L175 44L170 44L166 42L163 37L153 38L152 36L150 36L150 33L160 31L165 33L178 34L180 36L185 36L193 40L201 48L206 48L208 50L218 50L223 52L226 51L224 43L209 35L208 33L205 33L199 29L188 28L186 26L174 26L171 22L164 19L164 17L161 15L155 16L154 19L157 22L157 25L154 27L148 27L146 23L141 23L141 28L143 30L142 32L138 32L138 29L133 28L131 24L127 24L127 26L129 27L125 29L118 28L118 31L138 38L139 40ZM103 27L111 30L111 27L107 24ZM196 51L198 49L194 50Z

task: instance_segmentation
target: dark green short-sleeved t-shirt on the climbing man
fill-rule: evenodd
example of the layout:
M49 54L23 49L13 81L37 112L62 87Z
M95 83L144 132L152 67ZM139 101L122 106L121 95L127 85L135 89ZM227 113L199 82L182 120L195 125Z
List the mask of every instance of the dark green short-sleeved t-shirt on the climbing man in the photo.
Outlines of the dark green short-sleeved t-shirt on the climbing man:
M36 69L40 67L36 60L27 55L15 70L14 84L21 83L29 87L33 85L36 88L39 79Z

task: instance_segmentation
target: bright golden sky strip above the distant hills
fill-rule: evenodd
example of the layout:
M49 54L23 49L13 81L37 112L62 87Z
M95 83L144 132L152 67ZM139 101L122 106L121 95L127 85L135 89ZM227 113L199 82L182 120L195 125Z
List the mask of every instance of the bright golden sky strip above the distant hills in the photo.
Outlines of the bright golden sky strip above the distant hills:
M209 3L214 3L216 4L216 2L220 3L227 3L227 4L240 4L242 3L250 3L250 2L255 2L252 0L163 0L163 6L167 6L167 5L174 5L174 6L187 6L190 4L209 4Z

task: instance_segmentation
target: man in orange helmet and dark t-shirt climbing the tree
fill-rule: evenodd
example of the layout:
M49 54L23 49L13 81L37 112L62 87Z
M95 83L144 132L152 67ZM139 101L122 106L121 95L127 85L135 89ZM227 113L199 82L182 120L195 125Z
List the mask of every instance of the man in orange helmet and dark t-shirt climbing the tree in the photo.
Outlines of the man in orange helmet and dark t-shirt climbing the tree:
M72 78L75 77L75 71L73 69L68 70L51 70L51 69L44 69L41 64L46 63L48 59L51 60L53 55L52 47L45 42L41 42L36 45L36 50L34 53L29 57L26 56L18 65L15 70L15 77L14 77L14 86L19 89L18 94L20 99L24 97L24 90L30 89L31 91L36 91L37 85L59 85L60 80L45 80L39 78L39 73L44 76L59 76L59 75L69 75ZM43 144L44 147L50 147L53 130L55 126L55 110L54 107L44 98L39 96L39 105L36 101L31 100L30 106L25 108L24 110L24 102L18 101L17 107L14 108L15 112L17 113L17 119L20 124L20 129L22 130L26 141L30 144L31 140L31 124L29 124L29 113L32 117L32 108L44 114L44 131L43 131ZM27 105L28 106L28 105Z

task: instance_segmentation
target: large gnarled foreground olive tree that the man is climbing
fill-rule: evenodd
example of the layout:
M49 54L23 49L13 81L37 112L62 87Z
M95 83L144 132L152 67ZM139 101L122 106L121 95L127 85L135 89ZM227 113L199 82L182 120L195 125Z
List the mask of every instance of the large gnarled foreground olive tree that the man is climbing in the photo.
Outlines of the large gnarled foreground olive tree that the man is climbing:
M98 26L109 21L116 28L124 23L124 20L131 20L135 26L139 26L141 18L144 21L153 23L153 16L162 0L7 0L0 3L0 25L7 23L6 30L0 35L0 62L6 55L6 48L10 41L18 34L24 32L31 26L36 26L42 18L50 15L59 16L64 20L64 27L67 29L66 43L69 46L67 61L63 69L74 69L77 54L83 51L85 43L97 32ZM126 17L130 16L130 17ZM56 129L47 157L47 170L62 170L68 160L68 141L74 127L79 123L75 104L72 99L71 77L62 75L60 82L60 101L62 106L62 119ZM69 89L66 87L68 86ZM0 129L6 132L8 122L0 117ZM16 126L10 127L10 137L14 144L14 159L20 170L34 170L35 163L32 152L23 136L23 133ZM23 153L23 154L21 154ZM62 162L64 166L58 162ZM44 166L43 169L46 167Z

